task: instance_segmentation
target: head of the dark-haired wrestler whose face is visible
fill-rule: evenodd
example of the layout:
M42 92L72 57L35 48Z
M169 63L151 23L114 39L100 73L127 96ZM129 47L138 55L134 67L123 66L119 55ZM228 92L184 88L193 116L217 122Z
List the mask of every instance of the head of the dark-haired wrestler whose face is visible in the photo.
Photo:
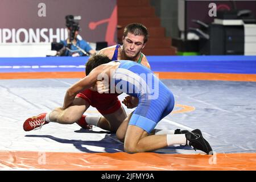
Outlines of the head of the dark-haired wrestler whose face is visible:
M134 59L145 47L148 31L141 23L131 23L123 31L123 51L126 57Z

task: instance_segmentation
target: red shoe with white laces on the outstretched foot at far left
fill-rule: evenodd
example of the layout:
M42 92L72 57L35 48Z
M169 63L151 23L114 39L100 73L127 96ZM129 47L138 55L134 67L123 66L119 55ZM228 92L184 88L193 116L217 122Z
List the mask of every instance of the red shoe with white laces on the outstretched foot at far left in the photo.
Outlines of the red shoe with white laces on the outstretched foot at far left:
M31 130L37 130L40 129L43 125L48 124L49 122L46 121L46 114L42 113L38 116L28 118L23 123L23 130L24 131L31 131Z

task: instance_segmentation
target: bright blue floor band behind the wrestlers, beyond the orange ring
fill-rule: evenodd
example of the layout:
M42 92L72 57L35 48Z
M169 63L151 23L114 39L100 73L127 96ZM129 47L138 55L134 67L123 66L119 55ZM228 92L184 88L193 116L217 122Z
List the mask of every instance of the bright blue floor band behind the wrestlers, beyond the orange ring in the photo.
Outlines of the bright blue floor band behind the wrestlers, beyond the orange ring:
M155 72L256 74L256 56L147 56ZM1 72L83 72L88 57L0 58Z

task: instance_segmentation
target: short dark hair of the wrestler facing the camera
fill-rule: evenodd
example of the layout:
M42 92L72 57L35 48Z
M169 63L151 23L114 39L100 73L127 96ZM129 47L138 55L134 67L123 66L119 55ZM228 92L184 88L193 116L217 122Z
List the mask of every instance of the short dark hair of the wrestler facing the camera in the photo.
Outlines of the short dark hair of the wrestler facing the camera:
M123 36L127 36L128 32L134 35L143 35L144 36L144 43L147 42L148 39L148 31L147 28L141 23L131 23L128 24L125 29L123 30Z

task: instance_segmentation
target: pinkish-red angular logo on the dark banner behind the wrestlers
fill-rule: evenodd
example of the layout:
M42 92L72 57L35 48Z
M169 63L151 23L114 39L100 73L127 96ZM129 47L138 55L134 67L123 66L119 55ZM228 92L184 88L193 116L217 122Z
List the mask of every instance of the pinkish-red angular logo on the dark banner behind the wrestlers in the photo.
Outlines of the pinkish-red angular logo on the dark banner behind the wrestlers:
M106 29L105 41L108 42L109 46L116 44L114 36L115 31L117 30L117 6L114 7L114 10L108 19L102 19L98 22L90 22L89 28L90 30L94 30L98 25L102 23L108 23L108 27Z

